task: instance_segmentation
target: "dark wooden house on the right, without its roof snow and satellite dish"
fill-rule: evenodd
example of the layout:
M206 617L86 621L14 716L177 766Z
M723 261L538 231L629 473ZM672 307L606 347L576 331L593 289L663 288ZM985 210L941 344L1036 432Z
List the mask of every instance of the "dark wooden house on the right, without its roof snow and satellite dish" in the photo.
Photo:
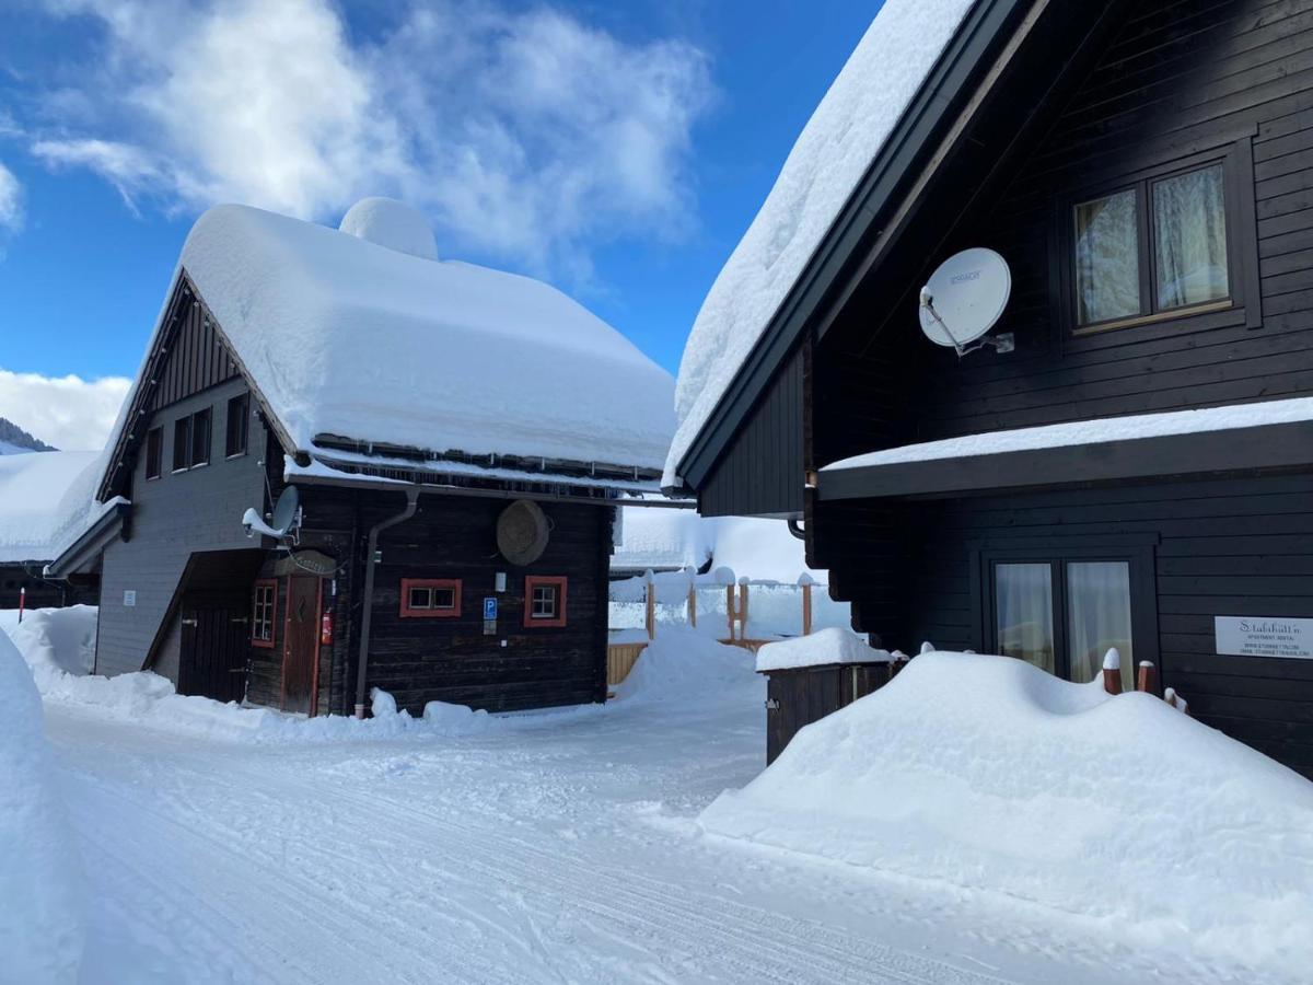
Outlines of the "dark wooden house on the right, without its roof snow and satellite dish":
M1010 352L919 331L968 247ZM1313 3L978 0L674 465L877 645L1116 645L1313 776L1310 394Z

